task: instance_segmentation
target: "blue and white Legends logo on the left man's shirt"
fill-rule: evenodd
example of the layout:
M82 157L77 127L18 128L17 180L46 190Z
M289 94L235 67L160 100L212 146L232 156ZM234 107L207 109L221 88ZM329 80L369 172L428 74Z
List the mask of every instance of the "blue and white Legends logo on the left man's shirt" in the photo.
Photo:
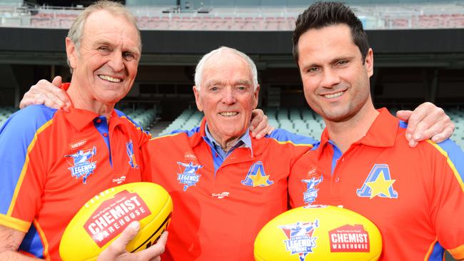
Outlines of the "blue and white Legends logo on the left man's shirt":
M64 155L64 158L72 158L73 162L67 160L69 165L71 165L69 170L71 170L71 177L82 178L82 182L86 184L87 178L89 175L94 173L96 168L96 161L92 161L96 155L96 147L89 150L78 150L74 154Z

